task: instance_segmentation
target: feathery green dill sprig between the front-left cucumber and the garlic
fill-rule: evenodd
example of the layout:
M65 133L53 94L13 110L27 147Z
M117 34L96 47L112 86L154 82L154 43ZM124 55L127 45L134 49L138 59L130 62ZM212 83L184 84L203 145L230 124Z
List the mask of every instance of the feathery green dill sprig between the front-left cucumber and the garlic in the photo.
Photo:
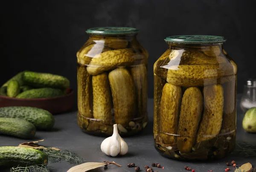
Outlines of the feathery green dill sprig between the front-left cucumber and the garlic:
M84 158L81 158L78 154L69 150L58 151L55 149L40 149L40 151L47 154L50 163L66 161L69 164L77 165L85 162Z

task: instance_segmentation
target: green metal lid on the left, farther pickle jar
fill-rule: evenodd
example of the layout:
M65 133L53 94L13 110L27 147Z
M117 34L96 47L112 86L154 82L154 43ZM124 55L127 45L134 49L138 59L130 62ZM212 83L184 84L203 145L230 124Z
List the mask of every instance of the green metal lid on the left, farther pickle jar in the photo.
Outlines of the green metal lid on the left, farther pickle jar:
M116 35L116 34L137 34L139 31L136 28L126 27L103 27L103 28L89 28L87 34L97 35Z

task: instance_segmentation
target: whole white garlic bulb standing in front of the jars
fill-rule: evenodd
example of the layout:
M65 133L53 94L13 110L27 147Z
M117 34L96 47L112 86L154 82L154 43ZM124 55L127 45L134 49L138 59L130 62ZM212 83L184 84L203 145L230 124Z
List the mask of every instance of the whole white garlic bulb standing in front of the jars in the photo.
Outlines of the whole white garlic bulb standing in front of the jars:
M125 155L128 152L128 145L118 133L117 124L114 124L113 135L102 141L100 146L103 153L110 156Z

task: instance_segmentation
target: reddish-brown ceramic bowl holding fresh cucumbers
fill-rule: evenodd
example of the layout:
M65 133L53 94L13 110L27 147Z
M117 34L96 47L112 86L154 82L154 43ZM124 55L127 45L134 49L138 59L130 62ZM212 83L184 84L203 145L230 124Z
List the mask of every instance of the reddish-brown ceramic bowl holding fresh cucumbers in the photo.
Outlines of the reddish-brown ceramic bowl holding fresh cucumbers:
M7 106L29 106L48 110L52 114L63 113L71 110L74 104L74 90L65 96L41 99L17 99L7 96L0 96L0 107Z

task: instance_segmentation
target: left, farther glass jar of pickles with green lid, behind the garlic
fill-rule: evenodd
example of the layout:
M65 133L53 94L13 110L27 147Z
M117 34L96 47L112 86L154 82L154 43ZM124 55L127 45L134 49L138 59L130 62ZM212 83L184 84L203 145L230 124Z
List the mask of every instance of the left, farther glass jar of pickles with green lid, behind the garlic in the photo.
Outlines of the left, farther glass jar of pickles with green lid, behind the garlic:
M77 52L78 124L85 133L108 136L117 124L120 135L145 128L148 53L135 28L87 30Z

